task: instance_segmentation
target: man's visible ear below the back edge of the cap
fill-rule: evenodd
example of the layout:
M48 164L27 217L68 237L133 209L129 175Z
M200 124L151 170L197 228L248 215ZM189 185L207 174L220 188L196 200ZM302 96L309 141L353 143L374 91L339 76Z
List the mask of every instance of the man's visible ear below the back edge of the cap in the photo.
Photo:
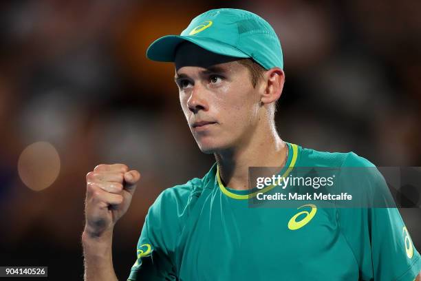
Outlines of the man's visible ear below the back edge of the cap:
M285 74L279 67L273 67L265 73L266 83L263 83L260 101L263 105L276 102L282 94Z

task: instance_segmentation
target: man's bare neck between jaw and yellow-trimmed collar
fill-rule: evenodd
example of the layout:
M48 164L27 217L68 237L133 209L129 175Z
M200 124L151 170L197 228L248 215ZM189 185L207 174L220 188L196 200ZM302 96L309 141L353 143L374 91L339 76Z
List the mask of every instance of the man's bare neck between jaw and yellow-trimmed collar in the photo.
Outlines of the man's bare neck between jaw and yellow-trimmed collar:
M259 127L245 143L215 153L219 176L225 186L248 189L248 167L283 167L285 164L288 147L274 123Z

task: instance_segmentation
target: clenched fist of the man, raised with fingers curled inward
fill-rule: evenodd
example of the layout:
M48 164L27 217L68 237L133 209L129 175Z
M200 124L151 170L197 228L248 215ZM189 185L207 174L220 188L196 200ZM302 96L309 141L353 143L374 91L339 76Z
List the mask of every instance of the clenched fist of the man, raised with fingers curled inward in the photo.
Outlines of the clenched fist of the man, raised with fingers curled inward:
M98 165L86 176L85 232L99 237L112 231L129 209L140 174L124 164Z

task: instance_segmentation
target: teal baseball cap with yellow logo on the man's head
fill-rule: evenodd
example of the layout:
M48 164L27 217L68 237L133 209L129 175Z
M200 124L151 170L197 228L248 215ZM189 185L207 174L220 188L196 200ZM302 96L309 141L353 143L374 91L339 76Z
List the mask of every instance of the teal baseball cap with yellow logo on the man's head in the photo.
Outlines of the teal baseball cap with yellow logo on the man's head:
M254 59L266 70L283 69L281 43L272 26L246 10L222 8L199 14L180 35L155 40L147 57L153 61L174 61L177 45L184 41L224 56Z

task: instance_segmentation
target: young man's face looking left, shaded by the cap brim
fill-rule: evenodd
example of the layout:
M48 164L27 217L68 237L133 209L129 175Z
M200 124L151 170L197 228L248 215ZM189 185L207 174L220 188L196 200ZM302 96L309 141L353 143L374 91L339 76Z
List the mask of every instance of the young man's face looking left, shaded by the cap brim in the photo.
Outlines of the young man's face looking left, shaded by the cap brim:
M175 82L188 125L202 152L247 143L259 121L259 87L236 58L182 43L175 56Z

